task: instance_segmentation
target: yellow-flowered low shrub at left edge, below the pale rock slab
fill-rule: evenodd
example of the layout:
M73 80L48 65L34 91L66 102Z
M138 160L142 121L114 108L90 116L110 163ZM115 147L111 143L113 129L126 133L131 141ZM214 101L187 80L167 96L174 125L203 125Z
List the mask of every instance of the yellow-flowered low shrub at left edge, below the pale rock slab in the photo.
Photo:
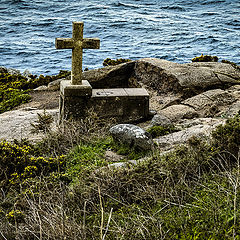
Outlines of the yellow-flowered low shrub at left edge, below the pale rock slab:
M34 156L36 149L28 144L19 145L6 141L0 142L0 186L8 187L28 178L62 171L64 156L45 158Z

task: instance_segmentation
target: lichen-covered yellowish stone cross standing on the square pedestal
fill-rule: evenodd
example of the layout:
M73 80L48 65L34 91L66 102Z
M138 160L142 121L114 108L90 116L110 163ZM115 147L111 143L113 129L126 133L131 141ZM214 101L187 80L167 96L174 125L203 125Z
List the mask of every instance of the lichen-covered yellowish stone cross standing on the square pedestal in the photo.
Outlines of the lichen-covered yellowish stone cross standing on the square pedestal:
M98 38L83 38L83 22L73 22L72 38L56 38L57 49L72 49L72 84L82 84L82 51L87 49L99 49Z

